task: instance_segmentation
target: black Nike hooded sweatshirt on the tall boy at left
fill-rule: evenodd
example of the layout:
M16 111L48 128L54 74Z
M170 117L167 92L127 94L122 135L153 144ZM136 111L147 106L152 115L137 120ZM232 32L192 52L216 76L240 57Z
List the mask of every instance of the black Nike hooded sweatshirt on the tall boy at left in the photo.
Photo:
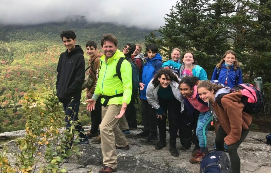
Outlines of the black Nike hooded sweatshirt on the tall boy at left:
M61 53L57 64L57 97L62 103L79 101L85 78L84 51L75 45L74 50Z

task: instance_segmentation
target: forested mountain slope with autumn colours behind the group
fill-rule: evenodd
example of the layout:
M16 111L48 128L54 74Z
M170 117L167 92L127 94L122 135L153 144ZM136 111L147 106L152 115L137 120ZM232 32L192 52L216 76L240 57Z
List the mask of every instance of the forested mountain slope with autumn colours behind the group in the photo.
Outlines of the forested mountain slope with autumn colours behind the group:
M76 44L82 46L84 52L88 40L97 42L100 49L100 39L106 33L112 33L118 38L118 47L121 49L127 42L143 44L144 37L150 32L110 23L87 23L83 19L40 25L0 25L0 125L2 127L7 128L14 123L23 124L23 121L15 122L22 117L22 112L14 107L22 103L31 77L37 77L38 88L38 84L44 82L47 75L51 81L46 83L46 87L51 89L50 93L54 91L59 54L65 51L60 38L60 33L64 30L75 31ZM89 57L86 52L84 55L87 66ZM42 93L41 96L46 95L48 93Z

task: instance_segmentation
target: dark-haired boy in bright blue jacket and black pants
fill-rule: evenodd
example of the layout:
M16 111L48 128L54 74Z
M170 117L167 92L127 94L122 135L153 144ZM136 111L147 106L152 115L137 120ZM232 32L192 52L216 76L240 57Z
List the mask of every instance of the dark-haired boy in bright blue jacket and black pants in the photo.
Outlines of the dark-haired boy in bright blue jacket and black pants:
M146 59L146 63L143 66L142 78L139 83L140 99L142 100L141 115L144 128L142 129L143 132L137 134L137 136L148 136L147 141L154 141L157 139L157 117L155 108L152 108L152 106L148 104L146 90L150 80L157 73L157 71L162 68L162 57L158 53L158 47L155 44L149 44L146 50L148 53L148 58Z

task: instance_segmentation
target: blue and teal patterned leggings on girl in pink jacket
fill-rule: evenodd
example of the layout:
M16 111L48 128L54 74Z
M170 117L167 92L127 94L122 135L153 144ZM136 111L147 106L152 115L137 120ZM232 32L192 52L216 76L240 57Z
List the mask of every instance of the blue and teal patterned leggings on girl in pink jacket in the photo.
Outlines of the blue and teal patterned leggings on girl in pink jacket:
M206 147L207 147L206 134L207 134L208 128L211 125L211 121L212 121L212 113L210 110L208 110L207 112L200 112L199 119L197 121L197 130L196 130L197 138L199 139L199 143L200 143L200 150L202 148L205 148L206 150ZM203 153L206 153L206 151Z

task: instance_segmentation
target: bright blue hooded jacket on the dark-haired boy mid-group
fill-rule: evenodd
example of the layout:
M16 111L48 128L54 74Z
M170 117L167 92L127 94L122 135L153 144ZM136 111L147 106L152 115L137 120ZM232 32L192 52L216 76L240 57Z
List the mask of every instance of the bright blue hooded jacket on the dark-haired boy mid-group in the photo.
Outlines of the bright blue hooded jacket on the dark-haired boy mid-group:
M148 84L150 80L153 78L153 76L157 73L157 71L162 68L162 57L159 53L155 55L153 59L146 59L146 63L143 66L143 71L142 71L142 79L141 82L145 84L143 90L140 90L140 98L147 100L146 97L146 90L148 87Z

